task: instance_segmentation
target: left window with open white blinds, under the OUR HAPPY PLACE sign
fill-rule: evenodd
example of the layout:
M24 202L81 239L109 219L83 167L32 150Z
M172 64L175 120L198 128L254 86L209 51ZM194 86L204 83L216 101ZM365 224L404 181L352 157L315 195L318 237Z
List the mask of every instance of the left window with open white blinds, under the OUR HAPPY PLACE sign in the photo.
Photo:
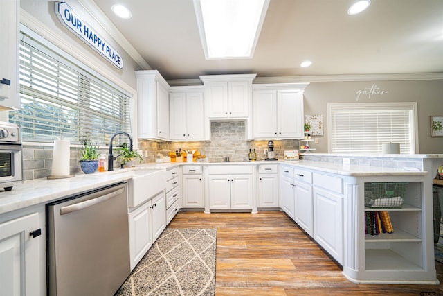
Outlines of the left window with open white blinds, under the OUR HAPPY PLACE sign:
M9 112L24 141L89 137L104 146L115 132L131 134L129 94L27 33L20 34L21 110Z

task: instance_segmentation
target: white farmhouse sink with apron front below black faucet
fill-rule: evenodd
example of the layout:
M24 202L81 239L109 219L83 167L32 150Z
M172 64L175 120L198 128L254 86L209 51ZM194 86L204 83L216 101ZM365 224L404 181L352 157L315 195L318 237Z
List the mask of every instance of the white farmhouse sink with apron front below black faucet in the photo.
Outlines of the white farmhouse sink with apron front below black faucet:
M128 207L137 207L156 193L165 190L166 171L164 169L138 169L128 181Z

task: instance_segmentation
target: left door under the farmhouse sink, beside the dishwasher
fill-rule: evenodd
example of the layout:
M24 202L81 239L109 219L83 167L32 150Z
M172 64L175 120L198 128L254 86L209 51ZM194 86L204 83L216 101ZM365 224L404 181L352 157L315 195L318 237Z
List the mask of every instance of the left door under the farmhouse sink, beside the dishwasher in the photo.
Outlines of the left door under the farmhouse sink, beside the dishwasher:
M151 201L129 213L129 254L131 270L152 245Z

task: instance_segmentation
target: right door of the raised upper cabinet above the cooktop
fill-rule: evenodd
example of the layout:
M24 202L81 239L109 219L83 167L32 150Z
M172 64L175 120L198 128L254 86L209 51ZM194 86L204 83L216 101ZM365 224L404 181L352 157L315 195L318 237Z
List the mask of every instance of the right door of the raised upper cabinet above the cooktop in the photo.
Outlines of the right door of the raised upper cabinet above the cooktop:
M249 116L247 81L228 82L228 116L230 118L246 118Z

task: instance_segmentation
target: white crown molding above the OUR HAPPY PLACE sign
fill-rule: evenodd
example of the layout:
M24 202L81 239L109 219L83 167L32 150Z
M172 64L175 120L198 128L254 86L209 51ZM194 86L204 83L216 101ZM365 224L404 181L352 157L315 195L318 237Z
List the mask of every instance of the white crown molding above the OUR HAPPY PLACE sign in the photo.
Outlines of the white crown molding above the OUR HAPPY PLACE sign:
M97 4L93 0L78 0L81 6L93 19L96 19L98 23L102 26L103 30L105 30L111 37L116 40L116 42L122 47L124 51L141 67L143 70L152 69L149 64L143 59L143 57L134 49L129 41L123 36L118 28L112 23L112 21L105 15L104 12L97 6Z

